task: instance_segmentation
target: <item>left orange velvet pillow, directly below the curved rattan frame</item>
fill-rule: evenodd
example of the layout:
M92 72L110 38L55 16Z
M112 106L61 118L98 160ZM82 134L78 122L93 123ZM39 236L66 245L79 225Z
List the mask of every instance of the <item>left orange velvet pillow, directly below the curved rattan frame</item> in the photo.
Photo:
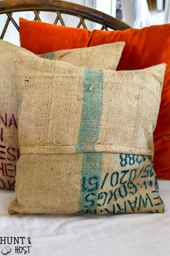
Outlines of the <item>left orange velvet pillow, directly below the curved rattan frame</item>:
M86 47L89 30L19 19L21 46L35 54Z

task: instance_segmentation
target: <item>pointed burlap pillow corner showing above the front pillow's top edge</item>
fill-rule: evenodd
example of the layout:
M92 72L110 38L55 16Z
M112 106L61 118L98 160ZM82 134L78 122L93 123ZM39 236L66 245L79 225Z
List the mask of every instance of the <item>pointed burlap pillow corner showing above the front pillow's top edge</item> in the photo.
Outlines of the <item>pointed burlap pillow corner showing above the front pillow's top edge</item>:
M124 42L108 43L89 48L53 51L49 54L41 54L40 56L44 59L66 61L76 67L116 70L123 46L125 46ZM112 54L112 58L110 54Z

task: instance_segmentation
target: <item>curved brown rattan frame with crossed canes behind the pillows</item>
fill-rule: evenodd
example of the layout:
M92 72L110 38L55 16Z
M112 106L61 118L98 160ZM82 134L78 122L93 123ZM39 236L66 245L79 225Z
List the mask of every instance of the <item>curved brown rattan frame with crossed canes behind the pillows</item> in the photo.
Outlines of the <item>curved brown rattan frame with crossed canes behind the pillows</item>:
M101 30L125 30L130 28L129 25L125 24L120 20L117 20L114 17L99 12L96 9L89 7L84 7L80 4L74 4L68 1L60 0L4 0L0 1L0 14L6 14L7 20L4 25L4 29L0 34L0 38L3 39L6 33L9 22L12 22L14 27L19 31L19 25L12 17L14 12L27 12L33 11L35 14L35 19L41 21L40 12L55 12L56 18L54 24L57 25L58 21L61 22L61 25L65 26L62 14L69 14L72 16L79 17L79 24L77 27L87 28L85 20L91 22L99 23L102 25ZM0 15L1 18L1 15Z

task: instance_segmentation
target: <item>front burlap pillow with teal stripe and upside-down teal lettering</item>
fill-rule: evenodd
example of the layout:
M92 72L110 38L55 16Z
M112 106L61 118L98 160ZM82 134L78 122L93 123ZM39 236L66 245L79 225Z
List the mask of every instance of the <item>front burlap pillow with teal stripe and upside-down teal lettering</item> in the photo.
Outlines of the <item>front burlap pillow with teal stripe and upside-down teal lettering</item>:
M152 166L164 64L115 72L25 52L15 67L21 156L10 214L164 212Z

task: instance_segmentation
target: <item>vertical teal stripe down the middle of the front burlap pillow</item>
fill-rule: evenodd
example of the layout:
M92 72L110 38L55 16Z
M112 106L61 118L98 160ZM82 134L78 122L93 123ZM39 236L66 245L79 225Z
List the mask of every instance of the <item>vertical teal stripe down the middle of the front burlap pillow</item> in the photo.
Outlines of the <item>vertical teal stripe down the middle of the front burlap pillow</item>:
M95 153L103 103L103 71L84 69L84 95L77 153L83 153L79 211L96 213L102 153ZM89 151L89 152L88 152Z

